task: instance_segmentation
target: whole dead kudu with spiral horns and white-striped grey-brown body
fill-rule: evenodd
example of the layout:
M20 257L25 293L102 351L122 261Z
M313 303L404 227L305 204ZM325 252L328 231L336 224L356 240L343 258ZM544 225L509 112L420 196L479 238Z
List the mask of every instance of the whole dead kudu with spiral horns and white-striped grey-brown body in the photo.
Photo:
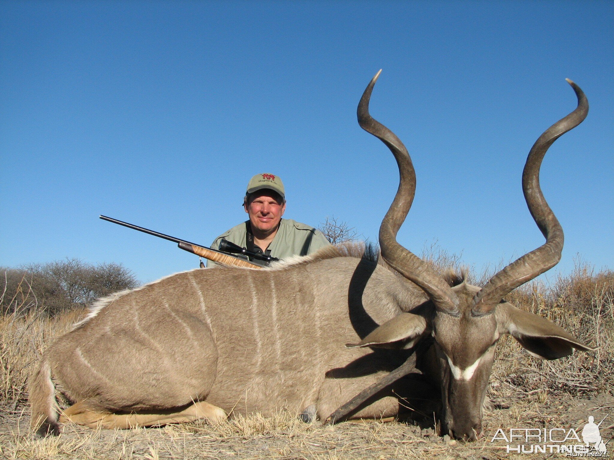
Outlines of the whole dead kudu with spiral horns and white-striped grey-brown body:
M263 270L196 269L101 299L45 351L29 382L39 434L59 429L52 378L79 401L61 420L90 426L217 421L231 410L266 415L279 407L336 421L397 414L400 402L387 391L418 367L441 388L442 431L475 439L502 334L546 359L590 350L503 300L561 258L562 229L538 175L548 147L586 117L580 88L569 82L577 109L542 134L524 168L524 196L546 243L480 289L446 280L396 241L416 180L402 142L368 113L378 76L360 99L358 119L400 171L379 230L381 258L368 248L331 247Z

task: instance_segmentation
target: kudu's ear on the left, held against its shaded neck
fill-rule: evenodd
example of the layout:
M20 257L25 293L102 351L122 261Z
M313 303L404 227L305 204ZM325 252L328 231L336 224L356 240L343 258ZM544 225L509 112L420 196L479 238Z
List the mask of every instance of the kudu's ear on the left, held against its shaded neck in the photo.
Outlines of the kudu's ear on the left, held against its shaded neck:
M426 320L413 313L400 313L376 328L359 343L346 343L347 348L377 347L408 350L426 331Z

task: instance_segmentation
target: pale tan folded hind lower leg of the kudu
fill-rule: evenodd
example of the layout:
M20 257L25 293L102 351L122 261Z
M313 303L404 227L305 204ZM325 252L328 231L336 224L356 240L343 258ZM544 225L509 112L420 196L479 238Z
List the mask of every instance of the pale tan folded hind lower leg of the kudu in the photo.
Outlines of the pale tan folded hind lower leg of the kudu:
M226 420L223 409L205 401L195 402L181 411L161 411L160 413L119 414L88 407L84 402L77 402L64 410L60 422L71 421L90 428L128 429L138 426L165 425L168 423L185 423L195 420L207 420L211 424Z

